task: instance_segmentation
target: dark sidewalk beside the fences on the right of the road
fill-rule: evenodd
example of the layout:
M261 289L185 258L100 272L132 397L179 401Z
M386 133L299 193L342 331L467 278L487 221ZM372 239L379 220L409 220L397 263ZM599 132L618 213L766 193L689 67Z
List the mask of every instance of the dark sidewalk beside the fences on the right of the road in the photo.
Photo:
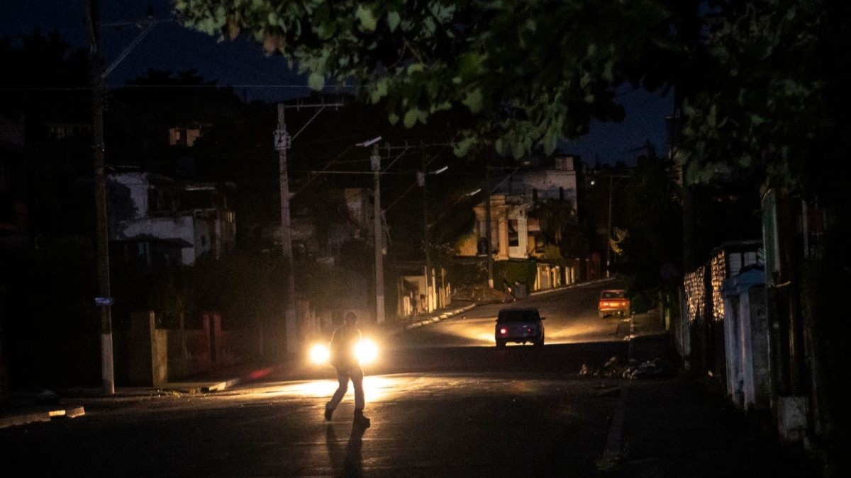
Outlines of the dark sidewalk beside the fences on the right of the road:
M671 366L676 357L667 334L632 342L639 361L657 356ZM717 387L681 370L673 378L625 380L598 469L617 477L821 476L801 447L781 445Z

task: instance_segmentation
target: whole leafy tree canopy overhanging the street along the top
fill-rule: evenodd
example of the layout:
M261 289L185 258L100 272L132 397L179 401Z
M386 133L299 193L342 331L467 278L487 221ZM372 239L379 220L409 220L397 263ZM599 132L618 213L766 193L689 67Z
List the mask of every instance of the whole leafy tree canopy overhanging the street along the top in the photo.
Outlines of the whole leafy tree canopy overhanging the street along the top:
M475 119L456 154L520 157L618 121L615 88L675 88L686 178L819 185L845 151L848 6L827 0L175 0L186 26L246 35L313 88L353 83L391 122ZM834 98L834 100L829 100ZM838 157L838 156L837 156ZM830 178L828 178L830 179Z

